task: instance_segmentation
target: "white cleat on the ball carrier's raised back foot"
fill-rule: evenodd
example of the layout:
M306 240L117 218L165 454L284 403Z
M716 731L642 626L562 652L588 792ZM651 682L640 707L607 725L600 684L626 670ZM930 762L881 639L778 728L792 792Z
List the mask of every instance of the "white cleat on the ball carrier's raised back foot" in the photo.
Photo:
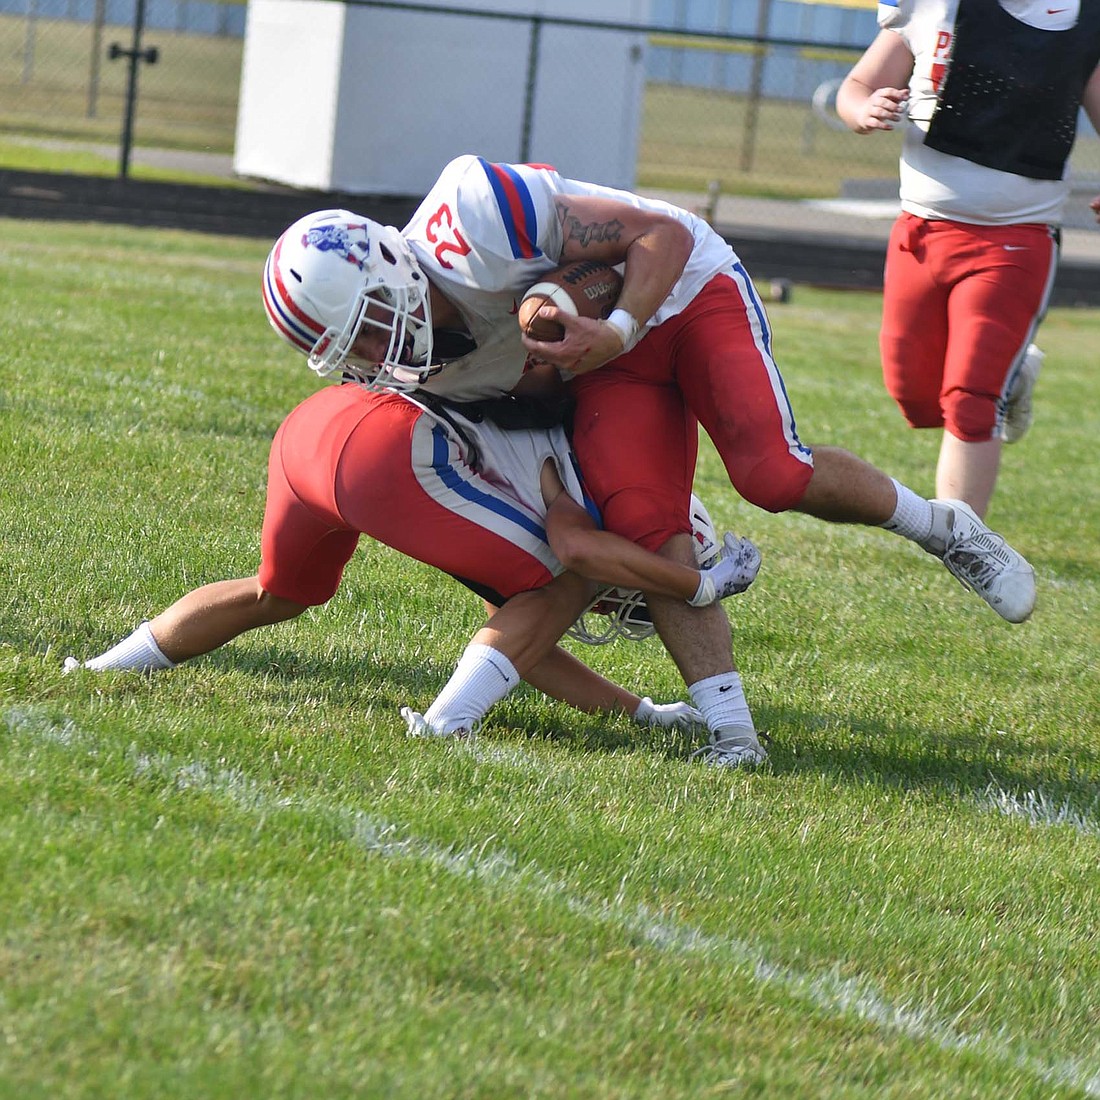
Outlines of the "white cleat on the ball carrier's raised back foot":
M950 574L1009 623L1023 623L1035 609L1035 570L1023 554L991 531L961 501L933 501L946 518L946 544L938 557ZM938 526L938 522L937 522ZM935 551L932 551L935 552Z

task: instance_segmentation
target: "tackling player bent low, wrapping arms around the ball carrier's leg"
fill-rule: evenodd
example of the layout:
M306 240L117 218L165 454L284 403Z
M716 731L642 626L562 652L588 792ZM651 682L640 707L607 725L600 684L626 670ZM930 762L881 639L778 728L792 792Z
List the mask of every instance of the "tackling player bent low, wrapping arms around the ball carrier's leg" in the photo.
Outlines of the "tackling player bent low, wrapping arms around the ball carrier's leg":
M400 394L326 386L273 440L256 575L202 585L99 657L66 667L172 668L294 618L336 594L365 534L453 575L492 612L431 707L403 710L411 733L473 732L520 678L582 711L625 711L650 725L701 721L686 704L654 704L610 683L556 644L591 602L593 582L704 605L751 584L759 553L727 535L713 568L686 568L598 530L587 503L560 427L505 431L437 416Z

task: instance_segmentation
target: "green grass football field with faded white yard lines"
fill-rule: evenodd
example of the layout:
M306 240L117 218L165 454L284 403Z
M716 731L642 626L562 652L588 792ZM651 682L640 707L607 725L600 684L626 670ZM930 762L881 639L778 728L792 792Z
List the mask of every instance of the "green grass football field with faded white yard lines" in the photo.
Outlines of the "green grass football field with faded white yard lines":
M1005 452L1021 627L704 453L765 554L727 605L774 739L740 773L527 689L473 744L407 739L481 619L377 544L292 624L62 675L255 568L268 441L316 386L265 252L0 222L0 1096L1100 1096L1100 314L1048 318ZM931 492L878 309L796 287L777 354L805 440ZM572 648L681 694L656 640Z

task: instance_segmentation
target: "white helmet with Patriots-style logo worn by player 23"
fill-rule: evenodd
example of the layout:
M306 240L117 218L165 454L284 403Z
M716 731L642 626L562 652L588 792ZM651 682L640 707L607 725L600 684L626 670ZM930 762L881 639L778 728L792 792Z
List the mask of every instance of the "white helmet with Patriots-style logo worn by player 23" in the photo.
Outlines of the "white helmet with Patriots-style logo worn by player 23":
M431 370L428 279L393 226L349 210L299 218L264 265L272 328L309 356L321 377L336 372L367 389L415 389ZM365 326L388 334L382 360L353 351Z

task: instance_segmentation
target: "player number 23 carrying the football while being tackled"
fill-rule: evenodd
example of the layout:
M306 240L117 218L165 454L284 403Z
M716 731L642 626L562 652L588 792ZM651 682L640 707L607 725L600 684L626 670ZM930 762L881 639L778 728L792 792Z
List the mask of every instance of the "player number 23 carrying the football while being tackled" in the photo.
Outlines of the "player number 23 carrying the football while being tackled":
M566 261L622 268L606 320L553 308L558 342L522 336L524 292ZM894 531L938 558L1010 622L1032 613L1031 565L958 501L927 501L847 451L795 431L763 305L702 218L566 179L544 165L460 156L404 230L345 210L292 226L267 262L275 330L321 375L451 402L522 393L532 361L575 399L573 446L607 528L682 564L698 425L734 487L793 509ZM648 593L666 648L711 730L708 756L765 758L718 605Z

